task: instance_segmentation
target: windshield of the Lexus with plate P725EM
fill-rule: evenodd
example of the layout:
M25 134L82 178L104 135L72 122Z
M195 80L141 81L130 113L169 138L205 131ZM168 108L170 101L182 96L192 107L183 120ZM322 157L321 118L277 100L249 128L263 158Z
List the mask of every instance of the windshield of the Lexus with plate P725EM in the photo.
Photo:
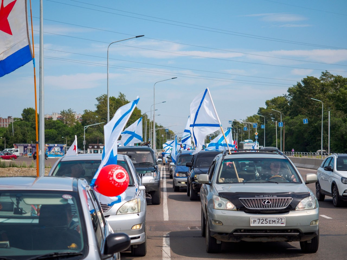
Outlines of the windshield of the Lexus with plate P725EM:
M229 158L224 159L217 183L301 183L296 170L287 159Z

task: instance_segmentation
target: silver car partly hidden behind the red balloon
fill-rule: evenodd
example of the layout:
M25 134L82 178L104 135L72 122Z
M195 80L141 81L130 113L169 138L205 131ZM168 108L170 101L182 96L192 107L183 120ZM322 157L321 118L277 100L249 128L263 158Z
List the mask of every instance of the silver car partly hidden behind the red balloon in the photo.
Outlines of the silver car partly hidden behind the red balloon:
M79 177L88 183L93 179L101 163L102 154L66 155L53 165L51 176ZM127 170L129 186L124 201L112 206L101 203L105 219L113 230L121 230L131 238L131 251L135 256L144 256L147 252L146 240L146 197L145 186L154 184L152 176L142 180L136 174L134 165L128 156L118 154L117 164ZM76 169L77 168L77 169ZM76 176L78 174L78 176Z

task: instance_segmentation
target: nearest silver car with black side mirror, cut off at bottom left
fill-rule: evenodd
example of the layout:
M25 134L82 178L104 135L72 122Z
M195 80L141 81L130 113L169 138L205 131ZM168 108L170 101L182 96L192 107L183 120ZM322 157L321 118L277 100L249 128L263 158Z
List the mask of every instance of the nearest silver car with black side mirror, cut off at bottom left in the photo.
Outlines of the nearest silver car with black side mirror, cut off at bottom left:
M0 205L1 259L111 260L130 245L129 236L113 233L82 179L1 178Z

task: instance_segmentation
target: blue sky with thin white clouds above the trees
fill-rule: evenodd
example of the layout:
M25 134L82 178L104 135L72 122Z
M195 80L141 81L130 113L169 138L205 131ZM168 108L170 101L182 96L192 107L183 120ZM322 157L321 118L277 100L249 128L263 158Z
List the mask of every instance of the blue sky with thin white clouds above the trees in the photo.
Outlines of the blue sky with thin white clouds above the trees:
M6 6L10 0L5 0ZM209 87L223 126L285 94L306 76L347 77L347 1L43 0L45 114L95 110L95 98L140 98L156 121L183 132L193 98ZM39 79L39 0L33 0ZM31 33L31 31L30 31ZM0 78L0 116L34 107L32 63ZM39 84L37 84L37 90ZM148 113L150 114L150 113Z

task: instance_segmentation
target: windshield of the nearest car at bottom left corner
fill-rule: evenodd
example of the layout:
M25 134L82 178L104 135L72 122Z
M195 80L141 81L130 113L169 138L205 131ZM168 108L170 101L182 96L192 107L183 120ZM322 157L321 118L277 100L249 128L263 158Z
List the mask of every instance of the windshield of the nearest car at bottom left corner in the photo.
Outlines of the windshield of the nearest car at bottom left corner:
M0 255L26 259L53 252L78 253L87 245L75 192L1 191Z

